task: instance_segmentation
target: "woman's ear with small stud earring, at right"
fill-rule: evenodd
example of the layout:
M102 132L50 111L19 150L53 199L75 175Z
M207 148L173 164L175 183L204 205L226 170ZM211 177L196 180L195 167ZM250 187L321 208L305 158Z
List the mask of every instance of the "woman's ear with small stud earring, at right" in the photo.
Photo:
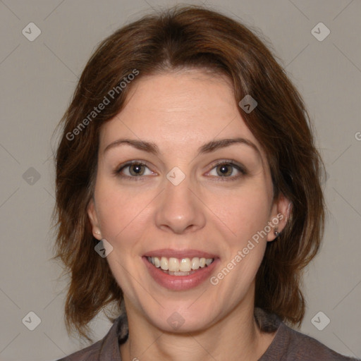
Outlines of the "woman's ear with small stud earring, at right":
M269 214L268 225L271 227L271 230L267 234L267 241L271 242L277 237L274 233L275 231L281 233L290 218L291 209L292 202L284 195L281 194L277 200L274 200Z

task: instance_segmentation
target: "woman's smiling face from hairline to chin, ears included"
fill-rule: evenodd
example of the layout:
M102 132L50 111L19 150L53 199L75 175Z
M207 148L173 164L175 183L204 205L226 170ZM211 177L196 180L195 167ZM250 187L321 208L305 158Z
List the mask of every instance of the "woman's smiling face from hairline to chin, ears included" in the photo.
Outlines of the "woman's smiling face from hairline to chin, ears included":
M273 202L266 156L228 80L196 70L140 78L99 142L88 214L113 247L106 259L128 314L196 331L253 305L288 202Z

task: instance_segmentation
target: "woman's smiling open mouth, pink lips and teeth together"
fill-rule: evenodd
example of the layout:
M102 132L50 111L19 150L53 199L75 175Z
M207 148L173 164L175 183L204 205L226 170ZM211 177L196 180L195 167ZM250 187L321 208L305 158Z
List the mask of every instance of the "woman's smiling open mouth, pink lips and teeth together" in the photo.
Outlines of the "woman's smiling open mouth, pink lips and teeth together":
M188 250L159 250L142 257L152 279L170 290L194 288L211 276L219 262L215 255Z

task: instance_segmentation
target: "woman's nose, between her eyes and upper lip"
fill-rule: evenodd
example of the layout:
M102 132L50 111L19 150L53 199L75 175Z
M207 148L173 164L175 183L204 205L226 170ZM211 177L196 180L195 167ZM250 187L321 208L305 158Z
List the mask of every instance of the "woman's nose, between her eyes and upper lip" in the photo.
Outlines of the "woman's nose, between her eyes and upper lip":
M159 195L155 221L158 228L177 234L194 232L204 227L204 204L191 189L190 179L174 185L167 178Z

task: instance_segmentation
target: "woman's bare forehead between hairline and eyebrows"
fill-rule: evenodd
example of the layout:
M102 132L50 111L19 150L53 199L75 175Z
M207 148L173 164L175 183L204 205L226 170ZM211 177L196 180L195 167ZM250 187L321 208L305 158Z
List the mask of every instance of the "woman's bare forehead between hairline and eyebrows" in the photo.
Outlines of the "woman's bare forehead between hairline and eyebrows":
M100 148L118 137L155 142L164 150L198 149L211 140L245 137L262 153L240 115L230 80L195 69L137 79L126 106L102 126Z

